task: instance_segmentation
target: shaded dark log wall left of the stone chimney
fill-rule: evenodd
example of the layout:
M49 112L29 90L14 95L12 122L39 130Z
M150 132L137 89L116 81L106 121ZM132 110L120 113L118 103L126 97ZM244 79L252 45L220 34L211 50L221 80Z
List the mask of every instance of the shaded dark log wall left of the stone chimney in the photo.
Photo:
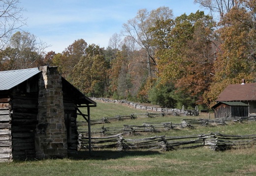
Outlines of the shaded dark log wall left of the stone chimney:
M35 158L37 100L36 93L14 95L10 100L13 159Z

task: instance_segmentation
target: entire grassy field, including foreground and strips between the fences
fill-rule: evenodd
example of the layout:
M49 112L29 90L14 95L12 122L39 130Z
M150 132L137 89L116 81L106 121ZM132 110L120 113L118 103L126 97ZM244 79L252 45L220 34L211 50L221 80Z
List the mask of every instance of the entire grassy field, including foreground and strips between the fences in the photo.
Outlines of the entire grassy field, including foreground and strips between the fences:
M144 111L145 112L145 111ZM124 105L97 102L91 108L92 119L131 113L144 113ZM108 126L141 125L147 121L180 123L183 118L137 118L106 124ZM211 115L213 118L213 115ZM81 119L82 120L82 119ZM104 125L104 126L106 126ZM98 125L102 126L102 125ZM95 126L92 126L95 127ZM228 126L196 127L162 131L166 136L181 136L209 132L224 134L255 134L256 122L231 123ZM147 133L138 137L160 135ZM255 176L256 147L228 151L212 151L206 147L177 151L134 150L79 151L77 156L65 159L14 161L0 163L0 176Z

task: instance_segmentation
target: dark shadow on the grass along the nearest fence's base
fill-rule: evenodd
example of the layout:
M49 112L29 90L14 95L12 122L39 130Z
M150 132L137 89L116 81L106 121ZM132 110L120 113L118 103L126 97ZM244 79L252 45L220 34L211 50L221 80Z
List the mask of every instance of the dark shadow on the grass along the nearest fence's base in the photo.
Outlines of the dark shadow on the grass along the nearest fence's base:
M111 151L111 150L96 150L92 151L91 155L89 151L78 151L78 154L71 155L70 158L74 160L85 160L85 159L118 159L127 156L146 156L146 155L157 155L161 154L159 151Z

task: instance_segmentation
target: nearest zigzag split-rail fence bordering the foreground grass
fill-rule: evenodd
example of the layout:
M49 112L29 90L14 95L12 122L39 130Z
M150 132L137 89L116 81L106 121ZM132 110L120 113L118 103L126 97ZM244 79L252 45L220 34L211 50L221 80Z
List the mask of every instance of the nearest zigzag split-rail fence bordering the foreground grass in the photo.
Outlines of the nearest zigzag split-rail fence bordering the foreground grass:
M79 149L88 149L88 137L79 134ZM177 149L192 149L206 146L214 151L224 151L232 148L252 147L256 144L254 135L226 135L220 133L198 134L188 136L154 136L143 139L125 139L123 134L108 137L92 137L92 148L160 149L171 151Z

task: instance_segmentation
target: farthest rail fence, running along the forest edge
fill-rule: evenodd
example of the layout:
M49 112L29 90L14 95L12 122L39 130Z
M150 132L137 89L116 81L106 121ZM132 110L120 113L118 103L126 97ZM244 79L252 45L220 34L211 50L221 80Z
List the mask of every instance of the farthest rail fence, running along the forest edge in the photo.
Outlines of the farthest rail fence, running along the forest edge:
M198 116L199 111L198 110L187 110L187 109L178 109L178 108L161 108L161 107L156 107L156 106L146 106L143 104L139 104L136 102L132 101L127 101L127 100L110 100L110 99L105 99L105 98L91 98L92 100L97 100L97 101L103 101L103 102L111 102L111 103L121 103L121 104L126 104L128 106L134 107L136 109L142 109L142 110L147 110L147 111L156 111L156 112L174 112L176 115L183 115L183 116Z

